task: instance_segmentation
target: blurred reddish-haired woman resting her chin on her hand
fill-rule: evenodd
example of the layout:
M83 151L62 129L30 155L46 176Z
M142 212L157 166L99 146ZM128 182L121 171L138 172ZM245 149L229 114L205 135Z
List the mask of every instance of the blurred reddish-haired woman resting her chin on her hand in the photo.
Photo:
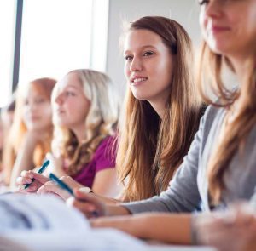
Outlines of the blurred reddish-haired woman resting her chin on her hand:
M3 150L5 183L15 185L23 169L42 165L53 134L50 95L55 79L44 77L20 83L14 121Z

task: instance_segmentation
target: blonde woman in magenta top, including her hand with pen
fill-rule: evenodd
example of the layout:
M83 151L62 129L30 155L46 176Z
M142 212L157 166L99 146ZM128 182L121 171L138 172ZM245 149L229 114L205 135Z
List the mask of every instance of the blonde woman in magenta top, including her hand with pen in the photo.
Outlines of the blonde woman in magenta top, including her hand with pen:
M114 134L119 100L114 92L110 79L92 70L70 71L56 83L52 94L54 139L52 154L46 156L50 166L44 175L52 172L100 195L117 195ZM28 181L35 175L23 173L17 183L31 183ZM37 191L47 182L38 191L44 192L45 187L53 185L48 181L40 175L26 191Z

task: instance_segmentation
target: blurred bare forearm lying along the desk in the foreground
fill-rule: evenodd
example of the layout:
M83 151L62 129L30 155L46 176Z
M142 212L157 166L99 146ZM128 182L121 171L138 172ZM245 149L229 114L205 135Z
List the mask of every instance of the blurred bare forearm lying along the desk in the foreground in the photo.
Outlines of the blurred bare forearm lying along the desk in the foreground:
M143 239L190 244L190 220L190 214L139 214L99 218L90 223L93 227L113 227Z

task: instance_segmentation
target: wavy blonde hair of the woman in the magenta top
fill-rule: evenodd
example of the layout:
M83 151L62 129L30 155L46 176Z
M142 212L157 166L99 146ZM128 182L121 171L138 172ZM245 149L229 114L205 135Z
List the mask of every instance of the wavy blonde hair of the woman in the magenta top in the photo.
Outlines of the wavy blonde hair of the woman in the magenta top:
M89 163L100 142L108 135L116 134L119 118L119 96L110 78L99 71L78 69L67 73L76 74L84 89L85 97L90 100L90 110L84 124L84 141L79 143L70 128L61 127L56 122L54 113L54 139L52 151L69 160L67 174L75 175ZM67 76L66 75L66 76ZM52 102L59 93L59 83L56 84Z

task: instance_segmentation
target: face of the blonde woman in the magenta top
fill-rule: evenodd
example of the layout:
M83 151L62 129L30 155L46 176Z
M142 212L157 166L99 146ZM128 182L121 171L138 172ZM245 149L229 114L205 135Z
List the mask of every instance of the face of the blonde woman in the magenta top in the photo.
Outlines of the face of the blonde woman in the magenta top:
M53 104L56 123L70 129L84 126L90 101L85 97L77 75L69 73L58 83L58 88Z

